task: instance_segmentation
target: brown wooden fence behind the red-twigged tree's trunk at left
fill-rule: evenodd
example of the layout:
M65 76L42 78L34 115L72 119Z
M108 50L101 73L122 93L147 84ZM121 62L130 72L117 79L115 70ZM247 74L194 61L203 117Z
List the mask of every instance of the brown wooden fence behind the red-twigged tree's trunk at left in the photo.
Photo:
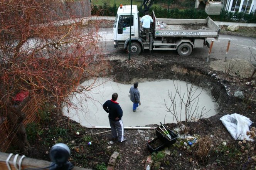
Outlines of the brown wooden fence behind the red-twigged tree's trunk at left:
M39 122L40 117L38 110L42 104L40 97L32 98L22 108L22 112L25 113L26 118L23 120L23 124L26 126L31 122ZM2 123L0 122L0 151L5 152L11 144L16 144L18 138L16 136L17 129L10 129L10 122L2 117Z

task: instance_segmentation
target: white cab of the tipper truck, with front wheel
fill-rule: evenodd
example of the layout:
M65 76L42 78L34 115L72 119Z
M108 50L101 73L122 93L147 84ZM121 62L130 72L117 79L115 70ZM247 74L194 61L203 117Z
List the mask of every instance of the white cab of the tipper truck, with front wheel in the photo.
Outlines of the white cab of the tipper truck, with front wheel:
M140 43L143 42L140 40L140 16L136 5L120 5L113 24L113 30L115 48L128 48L131 31L131 51L133 54L141 52L142 44Z

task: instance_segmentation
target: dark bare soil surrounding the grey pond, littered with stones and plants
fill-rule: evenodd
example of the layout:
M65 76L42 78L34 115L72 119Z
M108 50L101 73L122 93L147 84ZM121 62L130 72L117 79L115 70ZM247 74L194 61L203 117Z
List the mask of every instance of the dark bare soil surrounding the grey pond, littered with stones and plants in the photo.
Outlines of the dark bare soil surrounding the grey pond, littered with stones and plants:
M225 31L224 33L229 32ZM234 34L232 33L232 35ZM165 78L188 81L210 89L212 96L219 104L218 114L209 119L189 122L186 135L179 133L177 124L165 122L166 127L178 134L179 138L175 144L167 145L162 150L163 152L159 152L165 152L165 154L163 158L157 159L159 153L152 153L147 147L148 140L156 137L154 129L126 129L126 142L120 144L113 141L114 144L109 145L108 142L111 140L111 133L107 132L109 129L82 127L77 122L61 116L60 111L51 109L49 111L51 121L41 125L41 133L30 141L31 149L28 157L49 160L49 149L52 145L61 142L67 144L71 149L69 161L75 166L84 168L103 170L108 165L111 154L119 152L120 156L115 167L117 170L142 170L149 155L152 155L154 160L152 170L255 169L255 142L246 142L243 144L245 149L242 149L238 141L232 139L219 120L226 114L238 113L253 121L251 127L256 126L256 93L253 92L255 78L250 81L242 76L226 74L223 71L224 68L214 70L210 64L205 64L199 58L139 55L135 60L120 61L119 59L113 60L113 57L115 58L115 54L106 56L106 59L111 58L109 77L115 81L130 83L140 79ZM214 59L210 60L210 62L214 61ZM243 92L244 96L241 98L234 96L236 91ZM108 121L107 115L106 121ZM76 132L80 132L80 134L76 135ZM188 143L186 136L193 135L196 135L198 139L202 137L210 139L211 148L203 158L198 154L200 146L197 144L192 147L184 145L184 142ZM91 142L92 145L88 145L88 142ZM223 145L223 142L226 142L227 145ZM157 148L156 145L153 147ZM245 152L246 149L248 152Z

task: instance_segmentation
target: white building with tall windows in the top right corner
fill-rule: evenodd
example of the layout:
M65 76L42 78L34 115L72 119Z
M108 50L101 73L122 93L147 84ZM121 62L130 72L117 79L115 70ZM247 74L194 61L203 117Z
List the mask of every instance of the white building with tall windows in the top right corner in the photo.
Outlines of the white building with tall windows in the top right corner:
M254 13L256 0L225 0L225 10L232 12Z

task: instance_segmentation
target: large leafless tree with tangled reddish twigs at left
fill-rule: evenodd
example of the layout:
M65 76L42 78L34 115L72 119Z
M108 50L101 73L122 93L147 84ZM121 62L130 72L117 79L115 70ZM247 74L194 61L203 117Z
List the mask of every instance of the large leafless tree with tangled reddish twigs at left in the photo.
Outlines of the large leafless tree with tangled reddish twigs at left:
M61 5L58 0L0 2L0 116L19 138L20 152L29 148L21 111L29 99L40 96L57 107L72 104L67 96L93 88L93 83L83 87L80 81L104 70L97 24L56 26L56 21L76 18ZM20 92L29 92L29 97L15 104L13 97Z

